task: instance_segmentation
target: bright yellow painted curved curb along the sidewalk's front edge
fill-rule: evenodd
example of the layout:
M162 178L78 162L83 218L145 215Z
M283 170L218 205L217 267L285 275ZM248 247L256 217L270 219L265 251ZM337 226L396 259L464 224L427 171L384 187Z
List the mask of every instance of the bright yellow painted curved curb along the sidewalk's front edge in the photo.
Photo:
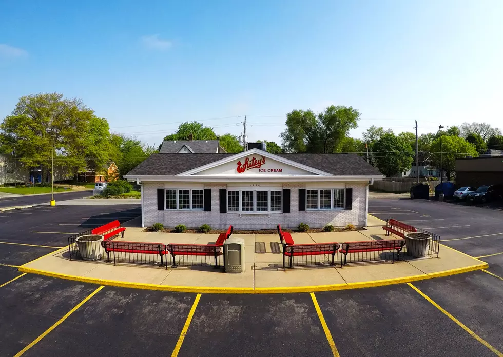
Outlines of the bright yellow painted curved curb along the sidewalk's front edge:
M27 263L28 264L28 263ZM362 289L377 286L393 285L410 283L419 280L434 279L435 277L449 276L454 274L466 273L469 271L487 269L487 263L472 265L463 268L449 269L439 271L427 275L413 275L398 277L394 279L374 280L361 283L349 284L332 284L332 285L313 285L313 286L291 286L291 287L277 287L277 288L219 288L219 287L198 287L198 286L172 286L172 285L158 285L158 284L142 284L142 283L129 283L116 280L96 279L93 277L84 277L76 275L67 275L62 273L54 273L40 269L33 269L22 265L19 271L24 273L39 274L61 279L79 281L83 283L92 283L100 285L118 286L122 288L145 289L145 290L162 290L173 292L194 292L206 294L277 294L277 293L299 293L299 292L318 292L318 291L336 291L348 289Z

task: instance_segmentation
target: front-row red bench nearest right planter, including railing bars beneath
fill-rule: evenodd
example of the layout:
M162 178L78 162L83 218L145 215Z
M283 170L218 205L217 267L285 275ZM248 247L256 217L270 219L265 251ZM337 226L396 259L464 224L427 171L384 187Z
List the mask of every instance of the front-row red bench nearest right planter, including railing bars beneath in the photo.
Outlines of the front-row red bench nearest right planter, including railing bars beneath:
M400 253L405 245L403 239L382 241L347 242L341 244L341 268L348 263L364 263L375 261L390 261L400 259Z

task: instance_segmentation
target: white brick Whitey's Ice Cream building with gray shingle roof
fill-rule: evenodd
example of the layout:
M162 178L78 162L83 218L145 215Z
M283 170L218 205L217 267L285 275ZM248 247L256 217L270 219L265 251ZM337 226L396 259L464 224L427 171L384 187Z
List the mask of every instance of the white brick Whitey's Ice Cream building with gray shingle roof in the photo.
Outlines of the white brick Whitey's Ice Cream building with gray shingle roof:
M366 225L384 176L354 154L154 154L125 176L142 185L142 222L236 229Z

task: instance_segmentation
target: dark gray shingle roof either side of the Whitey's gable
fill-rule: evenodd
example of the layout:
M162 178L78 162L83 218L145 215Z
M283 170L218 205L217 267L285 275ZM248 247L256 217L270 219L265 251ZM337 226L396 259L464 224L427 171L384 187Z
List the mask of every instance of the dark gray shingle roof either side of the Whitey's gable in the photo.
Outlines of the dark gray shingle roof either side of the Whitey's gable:
M236 154L152 154L127 176L174 176ZM382 175L375 167L356 154L295 153L277 154L288 160L333 175Z

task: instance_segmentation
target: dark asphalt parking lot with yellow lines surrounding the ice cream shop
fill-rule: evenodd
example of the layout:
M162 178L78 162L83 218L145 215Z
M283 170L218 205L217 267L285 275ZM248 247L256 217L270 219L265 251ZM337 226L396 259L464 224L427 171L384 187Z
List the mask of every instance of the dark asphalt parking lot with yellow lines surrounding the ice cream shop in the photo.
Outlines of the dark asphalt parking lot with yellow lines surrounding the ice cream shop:
M477 253L481 245L469 242L486 242L479 240L489 240L484 243L488 251L497 252L503 212L485 214L489 210L475 207L477 211L468 214L456 207L409 200L369 202L375 215L428 228L440 234L444 244L467 254ZM3 264L15 266L45 254L33 248L56 249L31 245L65 246L69 233L140 214L138 206L33 209L10 214L8 224L0 221ZM376 213L378 209L391 212ZM487 236L470 238L478 235ZM18 251L7 251L7 246ZM483 258L494 274L501 255ZM101 287L21 274L4 265L0 357L503 356L501 296L503 280L482 271L313 295L229 295Z

